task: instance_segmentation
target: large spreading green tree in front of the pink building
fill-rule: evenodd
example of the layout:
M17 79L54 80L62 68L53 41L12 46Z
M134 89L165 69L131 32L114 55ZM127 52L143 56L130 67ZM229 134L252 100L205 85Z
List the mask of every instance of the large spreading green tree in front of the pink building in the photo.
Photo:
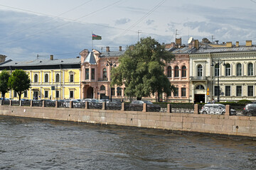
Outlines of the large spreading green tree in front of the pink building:
M136 96L137 100L150 94L171 94L174 86L164 74L164 68L173 58L153 38L141 38L136 45L127 47L119 58L119 66L112 69L112 86L124 84L125 95Z

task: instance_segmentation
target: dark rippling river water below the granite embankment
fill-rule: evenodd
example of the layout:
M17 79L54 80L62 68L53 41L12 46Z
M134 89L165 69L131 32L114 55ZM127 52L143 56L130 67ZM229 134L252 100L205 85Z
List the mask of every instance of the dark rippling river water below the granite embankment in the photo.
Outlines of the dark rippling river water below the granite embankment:
M256 142L0 116L0 169L256 169Z

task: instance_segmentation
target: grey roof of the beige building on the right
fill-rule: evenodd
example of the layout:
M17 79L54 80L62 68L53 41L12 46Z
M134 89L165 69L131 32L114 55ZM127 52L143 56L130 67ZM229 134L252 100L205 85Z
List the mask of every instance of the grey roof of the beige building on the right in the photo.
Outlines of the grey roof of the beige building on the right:
M210 53L210 52L250 52L255 51L256 52L256 46L245 46L241 45L239 47L210 47L209 45L201 45L198 50L196 50L195 54L198 53Z

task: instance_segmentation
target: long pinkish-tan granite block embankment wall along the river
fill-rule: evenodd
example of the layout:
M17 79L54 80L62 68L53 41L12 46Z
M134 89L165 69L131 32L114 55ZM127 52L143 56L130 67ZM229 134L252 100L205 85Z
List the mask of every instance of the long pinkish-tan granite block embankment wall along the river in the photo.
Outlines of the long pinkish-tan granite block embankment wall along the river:
M0 115L256 137L256 117L0 106Z

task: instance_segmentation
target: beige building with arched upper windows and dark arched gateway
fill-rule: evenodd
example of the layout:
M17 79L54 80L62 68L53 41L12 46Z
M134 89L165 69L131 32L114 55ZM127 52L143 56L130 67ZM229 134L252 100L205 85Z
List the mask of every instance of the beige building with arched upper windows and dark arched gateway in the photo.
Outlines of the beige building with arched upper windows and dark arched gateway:
M201 45L190 55L191 101L255 101L256 46Z

